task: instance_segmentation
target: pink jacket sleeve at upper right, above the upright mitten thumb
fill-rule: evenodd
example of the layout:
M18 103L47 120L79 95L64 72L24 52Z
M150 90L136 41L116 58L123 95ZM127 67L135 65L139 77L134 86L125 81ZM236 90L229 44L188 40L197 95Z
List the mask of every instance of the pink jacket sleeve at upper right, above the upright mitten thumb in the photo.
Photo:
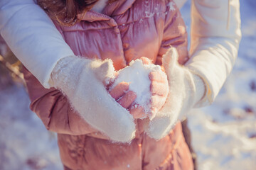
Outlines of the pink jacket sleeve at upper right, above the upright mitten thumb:
M176 50L178 51L178 62L180 64L185 64L188 60L186 25L174 1L166 0L165 14L164 34L156 64L161 64L162 55L166 53L170 45L176 47Z

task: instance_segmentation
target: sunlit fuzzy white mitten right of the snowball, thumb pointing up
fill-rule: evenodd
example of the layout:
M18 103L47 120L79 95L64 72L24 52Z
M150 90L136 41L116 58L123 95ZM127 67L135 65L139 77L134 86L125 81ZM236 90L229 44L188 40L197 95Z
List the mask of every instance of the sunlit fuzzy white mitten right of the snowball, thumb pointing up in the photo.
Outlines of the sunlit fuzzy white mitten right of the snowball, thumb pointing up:
M147 134L159 140L169 134L178 120L201 100L205 93L203 80L190 69L178 64L178 52L171 47L162 58L169 81L166 103L149 122Z

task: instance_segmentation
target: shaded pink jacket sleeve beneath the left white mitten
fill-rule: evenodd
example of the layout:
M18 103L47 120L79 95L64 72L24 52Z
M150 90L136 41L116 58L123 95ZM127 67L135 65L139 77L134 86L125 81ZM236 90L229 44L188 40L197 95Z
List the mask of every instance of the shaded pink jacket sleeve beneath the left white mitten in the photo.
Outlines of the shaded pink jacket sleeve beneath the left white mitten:
M31 99L31 111L41 118L48 130L70 135L97 132L80 118L62 92L54 88L45 89L25 67L23 74Z

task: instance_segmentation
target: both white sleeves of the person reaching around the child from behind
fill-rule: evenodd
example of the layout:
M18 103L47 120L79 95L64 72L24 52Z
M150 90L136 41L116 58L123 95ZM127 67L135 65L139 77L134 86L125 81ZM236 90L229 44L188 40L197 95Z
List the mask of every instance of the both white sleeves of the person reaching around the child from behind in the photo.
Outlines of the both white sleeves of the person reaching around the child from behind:
M186 0L175 1L181 7ZM207 95L198 103L206 106L217 96L238 55L240 4L239 0L191 1L191 59L186 66L207 85ZM58 60L73 55L53 22L33 0L0 1L0 34L46 88Z

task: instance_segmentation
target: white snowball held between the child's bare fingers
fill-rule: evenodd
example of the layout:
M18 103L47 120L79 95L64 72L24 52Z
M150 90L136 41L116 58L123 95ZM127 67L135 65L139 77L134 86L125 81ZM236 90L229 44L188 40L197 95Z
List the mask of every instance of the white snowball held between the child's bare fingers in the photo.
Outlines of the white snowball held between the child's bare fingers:
M134 101L135 106L142 106L146 113L150 113L150 84L149 73L161 70L161 67L155 64L143 64L142 60L134 60L129 66L119 70L117 79L112 84L113 89L121 82L129 83L129 91L134 91L137 98Z

